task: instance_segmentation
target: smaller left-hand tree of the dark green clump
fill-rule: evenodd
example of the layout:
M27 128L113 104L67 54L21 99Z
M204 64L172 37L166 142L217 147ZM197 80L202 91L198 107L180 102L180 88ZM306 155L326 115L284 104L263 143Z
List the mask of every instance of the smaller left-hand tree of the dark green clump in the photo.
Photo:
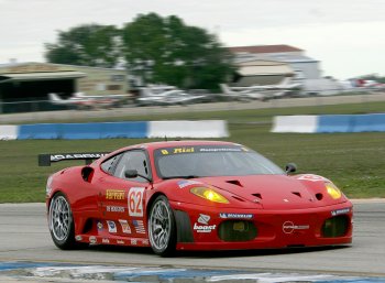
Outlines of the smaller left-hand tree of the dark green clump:
M45 44L45 57L57 64L113 67L121 58L120 42L113 25L80 25L61 31L57 43Z

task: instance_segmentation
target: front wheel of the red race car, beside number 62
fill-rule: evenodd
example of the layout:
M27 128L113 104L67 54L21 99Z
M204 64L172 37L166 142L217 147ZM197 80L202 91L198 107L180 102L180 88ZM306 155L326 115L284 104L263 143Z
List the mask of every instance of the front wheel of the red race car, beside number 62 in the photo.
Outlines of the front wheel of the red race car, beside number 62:
M173 209L167 197L158 196L148 214L148 237L153 251L162 257L175 252L176 228Z

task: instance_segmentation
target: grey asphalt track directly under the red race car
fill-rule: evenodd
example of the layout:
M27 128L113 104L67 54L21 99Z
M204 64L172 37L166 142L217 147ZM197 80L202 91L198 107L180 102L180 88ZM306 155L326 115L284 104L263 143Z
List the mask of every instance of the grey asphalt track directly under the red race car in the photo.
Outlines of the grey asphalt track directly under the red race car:
M148 248L90 247L62 251L52 242L44 204L0 205L0 263L53 262L243 270L253 272L306 272L385 277L385 200L354 202L354 239L339 248L183 252L160 258Z

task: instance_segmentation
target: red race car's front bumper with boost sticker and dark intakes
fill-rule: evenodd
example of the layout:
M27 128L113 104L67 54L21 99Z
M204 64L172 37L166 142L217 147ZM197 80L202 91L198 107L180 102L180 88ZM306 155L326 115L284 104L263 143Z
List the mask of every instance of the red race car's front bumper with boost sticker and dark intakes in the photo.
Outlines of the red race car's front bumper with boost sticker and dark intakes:
M352 242L351 203L308 209L221 209L172 203L178 250L337 246Z

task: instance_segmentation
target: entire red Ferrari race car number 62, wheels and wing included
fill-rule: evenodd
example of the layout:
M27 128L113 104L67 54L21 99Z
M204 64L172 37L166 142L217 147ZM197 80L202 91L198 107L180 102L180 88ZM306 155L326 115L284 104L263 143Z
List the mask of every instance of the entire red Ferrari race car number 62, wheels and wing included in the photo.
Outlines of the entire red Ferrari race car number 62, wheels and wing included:
M84 244L239 250L352 242L351 202L312 174L288 175L253 150L217 141L42 154L41 165L95 160L50 176L48 226L61 249Z

